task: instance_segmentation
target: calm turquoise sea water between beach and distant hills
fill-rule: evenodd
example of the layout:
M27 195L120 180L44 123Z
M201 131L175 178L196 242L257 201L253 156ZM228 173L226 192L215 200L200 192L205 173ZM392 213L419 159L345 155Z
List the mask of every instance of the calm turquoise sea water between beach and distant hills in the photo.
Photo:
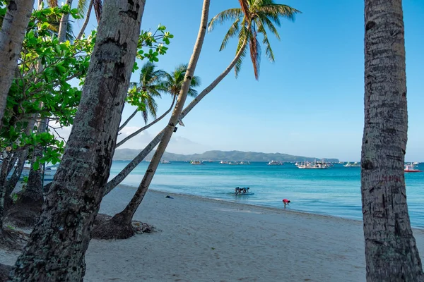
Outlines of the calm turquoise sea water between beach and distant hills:
M111 178L128 164L114 161ZM142 162L122 184L138 187L148 166ZM424 165L418 166L424 170ZM254 195L238 196L234 188L249 187ZM283 208L298 212L362 219L360 168L336 164L329 169L299 169L294 164L268 166L265 162L228 165L218 162L194 166L184 161L160 164L151 188L217 200ZM406 194L411 224L424 228L424 173L406 173Z

